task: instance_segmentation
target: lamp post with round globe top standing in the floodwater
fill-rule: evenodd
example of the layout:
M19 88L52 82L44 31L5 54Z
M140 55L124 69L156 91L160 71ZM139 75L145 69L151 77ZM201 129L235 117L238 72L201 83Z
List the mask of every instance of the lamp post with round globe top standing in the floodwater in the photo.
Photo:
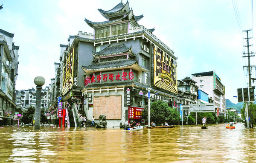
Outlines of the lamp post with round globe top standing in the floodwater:
M35 129L40 129L40 114L41 114L41 93L42 85L44 85L45 80L42 76L37 76L34 79L36 87L36 98L35 98Z

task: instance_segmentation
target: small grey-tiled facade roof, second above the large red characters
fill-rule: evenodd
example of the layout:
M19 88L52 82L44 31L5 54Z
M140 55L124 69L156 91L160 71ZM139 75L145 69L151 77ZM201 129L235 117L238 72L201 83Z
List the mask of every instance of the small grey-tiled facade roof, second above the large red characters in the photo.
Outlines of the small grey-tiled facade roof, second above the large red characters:
M113 54L122 54L132 52L132 48L127 48L124 44L109 45L107 48L99 52L92 52L93 56L109 56Z

